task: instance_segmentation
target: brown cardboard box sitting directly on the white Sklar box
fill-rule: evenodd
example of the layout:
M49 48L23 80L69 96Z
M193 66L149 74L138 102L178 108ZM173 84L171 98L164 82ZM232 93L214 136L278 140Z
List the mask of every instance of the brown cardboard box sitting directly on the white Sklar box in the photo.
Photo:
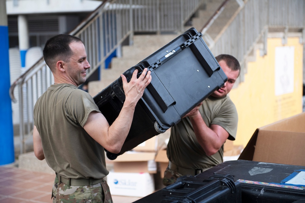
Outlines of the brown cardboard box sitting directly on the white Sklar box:
M114 172L128 173L157 173L155 152L128 151L114 159Z

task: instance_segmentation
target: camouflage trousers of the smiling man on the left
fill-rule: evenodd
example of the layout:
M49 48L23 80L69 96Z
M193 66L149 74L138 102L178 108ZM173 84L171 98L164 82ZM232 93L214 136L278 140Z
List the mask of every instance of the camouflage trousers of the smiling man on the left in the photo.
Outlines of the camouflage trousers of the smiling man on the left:
M53 203L113 203L109 186L105 180L95 185L68 187L64 183L59 183L56 176L52 197Z

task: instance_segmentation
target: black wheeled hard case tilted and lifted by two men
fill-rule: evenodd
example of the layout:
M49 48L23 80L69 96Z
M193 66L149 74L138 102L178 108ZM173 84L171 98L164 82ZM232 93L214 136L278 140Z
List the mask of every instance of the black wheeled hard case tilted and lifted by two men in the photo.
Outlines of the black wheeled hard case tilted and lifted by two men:
M115 159L177 124L228 80L206 43L195 28L187 30L123 74L127 81L135 69L151 71L152 81L138 101L131 129ZM121 77L94 96L99 110L111 125L125 100Z

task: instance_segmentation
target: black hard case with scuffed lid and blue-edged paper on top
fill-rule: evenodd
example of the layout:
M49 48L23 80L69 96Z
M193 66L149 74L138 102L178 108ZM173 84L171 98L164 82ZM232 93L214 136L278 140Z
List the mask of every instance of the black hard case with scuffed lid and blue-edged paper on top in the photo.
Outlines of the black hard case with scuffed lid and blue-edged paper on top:
M264 163L248 160L226 161L196 176L197 181L215 173L230 174L234 180L250 180L280 184L295 170L305 170L305 166ZM264 184L241 183L242 202L247 203L301 203L305 202L305 189L274 187Z

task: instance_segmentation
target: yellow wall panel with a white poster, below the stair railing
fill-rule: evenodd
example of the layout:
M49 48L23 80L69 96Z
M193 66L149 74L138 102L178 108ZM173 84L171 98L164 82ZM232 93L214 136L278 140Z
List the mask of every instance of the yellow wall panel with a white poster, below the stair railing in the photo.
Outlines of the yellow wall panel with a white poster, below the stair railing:
M287 71L285 65L275 60L277 56L278 61L282 61L279 57L279 50L283 50L281 47L285 47L286 51L294 51L290 60L293 61L293 69L288 72L292 78L290 81L285 79L289 74L275 75L275 70L279 70L279 66L284 68L282 73ZM277 67L275 67L276 63ZM275 81L280 82L277 83L280 85L275 87ZM291 91L276 96L275 91L285 91L286 85ZM256 61L248 63L244 82L232 89L229 94L239 115L234 145L246 146L257 128L301 113L302 94L303 44L300 44L299 37L288 38L285 45L282 44L282 38L268 38L267 55L261 57L259 51L256 51Z

